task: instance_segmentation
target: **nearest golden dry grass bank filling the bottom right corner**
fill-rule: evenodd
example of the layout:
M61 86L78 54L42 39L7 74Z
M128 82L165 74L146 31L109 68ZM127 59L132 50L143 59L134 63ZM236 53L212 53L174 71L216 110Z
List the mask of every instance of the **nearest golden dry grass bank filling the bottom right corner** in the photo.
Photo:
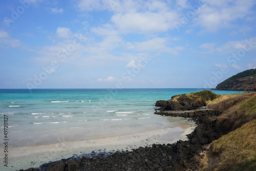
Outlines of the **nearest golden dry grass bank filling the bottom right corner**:
M256 169L256 120L212 142L212 152L220 155L215 170Z

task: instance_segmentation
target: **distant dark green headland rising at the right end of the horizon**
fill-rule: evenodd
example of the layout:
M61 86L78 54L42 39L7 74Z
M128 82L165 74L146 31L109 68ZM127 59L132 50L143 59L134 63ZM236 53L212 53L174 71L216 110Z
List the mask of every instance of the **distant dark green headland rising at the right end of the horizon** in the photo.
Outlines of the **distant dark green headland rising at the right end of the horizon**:
M214 90L254 91L253 77L256 82L256 69L246 70L219 83Z

